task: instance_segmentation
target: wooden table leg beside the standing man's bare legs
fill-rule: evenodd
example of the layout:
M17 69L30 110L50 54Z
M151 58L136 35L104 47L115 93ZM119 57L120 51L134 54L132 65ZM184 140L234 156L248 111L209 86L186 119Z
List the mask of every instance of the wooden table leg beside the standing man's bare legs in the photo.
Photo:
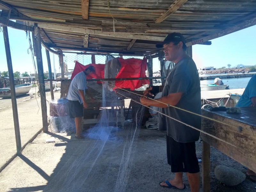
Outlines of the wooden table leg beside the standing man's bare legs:
M202 185L203 192L210 192L210 144L203 141L202 147Z

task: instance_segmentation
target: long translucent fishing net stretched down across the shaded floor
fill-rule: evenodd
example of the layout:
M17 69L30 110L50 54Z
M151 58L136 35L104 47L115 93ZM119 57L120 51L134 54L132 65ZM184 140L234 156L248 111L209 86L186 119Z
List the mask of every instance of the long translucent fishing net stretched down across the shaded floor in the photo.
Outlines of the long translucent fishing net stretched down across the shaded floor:
M103 88L98 124L84 132L85 139L80 140L81 143L73 149L73 154L60 171L51 175L44 191L125 191L144 106L139 104L139 96L133 96L131 118L118 123L113 121L113 117L120 116L120 109L108 106L111 106L109 102L115 103L120 99L115 92Z

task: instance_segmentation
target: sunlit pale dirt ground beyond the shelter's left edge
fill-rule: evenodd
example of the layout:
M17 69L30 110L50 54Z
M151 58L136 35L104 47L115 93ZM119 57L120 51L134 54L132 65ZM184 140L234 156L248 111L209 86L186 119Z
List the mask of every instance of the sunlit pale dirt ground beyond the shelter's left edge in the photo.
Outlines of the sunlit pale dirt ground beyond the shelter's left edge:
M35 93L36 89L31 88L30 92ZM35 97L36 96L36 97ZM60 98L60 92L55 92L54 97ZM49 116L49 104L51 93L46 92L47 115ZM0 99L0 140L1 156L0 168L16 153L16 140L12 114L12 100ZM17 109L19 116L21 146L24 146L43 127L41 99L37 94L30 97L29 94L17 97Z

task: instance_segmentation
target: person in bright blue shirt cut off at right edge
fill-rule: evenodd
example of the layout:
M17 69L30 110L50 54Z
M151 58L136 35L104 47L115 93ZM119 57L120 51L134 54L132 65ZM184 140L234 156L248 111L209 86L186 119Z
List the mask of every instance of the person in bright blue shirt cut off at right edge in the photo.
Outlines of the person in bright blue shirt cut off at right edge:
M243 95L236 104L236 107L256 107L256 74L248 82ZM247 169L246 174L251 180L256 181L256 173Z

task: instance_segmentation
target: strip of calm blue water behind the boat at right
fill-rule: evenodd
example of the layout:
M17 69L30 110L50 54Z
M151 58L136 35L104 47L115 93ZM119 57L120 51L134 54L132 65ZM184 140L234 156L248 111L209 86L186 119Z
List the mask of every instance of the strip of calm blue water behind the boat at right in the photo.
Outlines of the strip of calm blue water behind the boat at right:
M223 78L222 81L224 84L229 85L229 89L240 89L240 88L245 88L251 78L252 77ZM200 84L211 84L211 83L214 83L214 79L200 80Z

